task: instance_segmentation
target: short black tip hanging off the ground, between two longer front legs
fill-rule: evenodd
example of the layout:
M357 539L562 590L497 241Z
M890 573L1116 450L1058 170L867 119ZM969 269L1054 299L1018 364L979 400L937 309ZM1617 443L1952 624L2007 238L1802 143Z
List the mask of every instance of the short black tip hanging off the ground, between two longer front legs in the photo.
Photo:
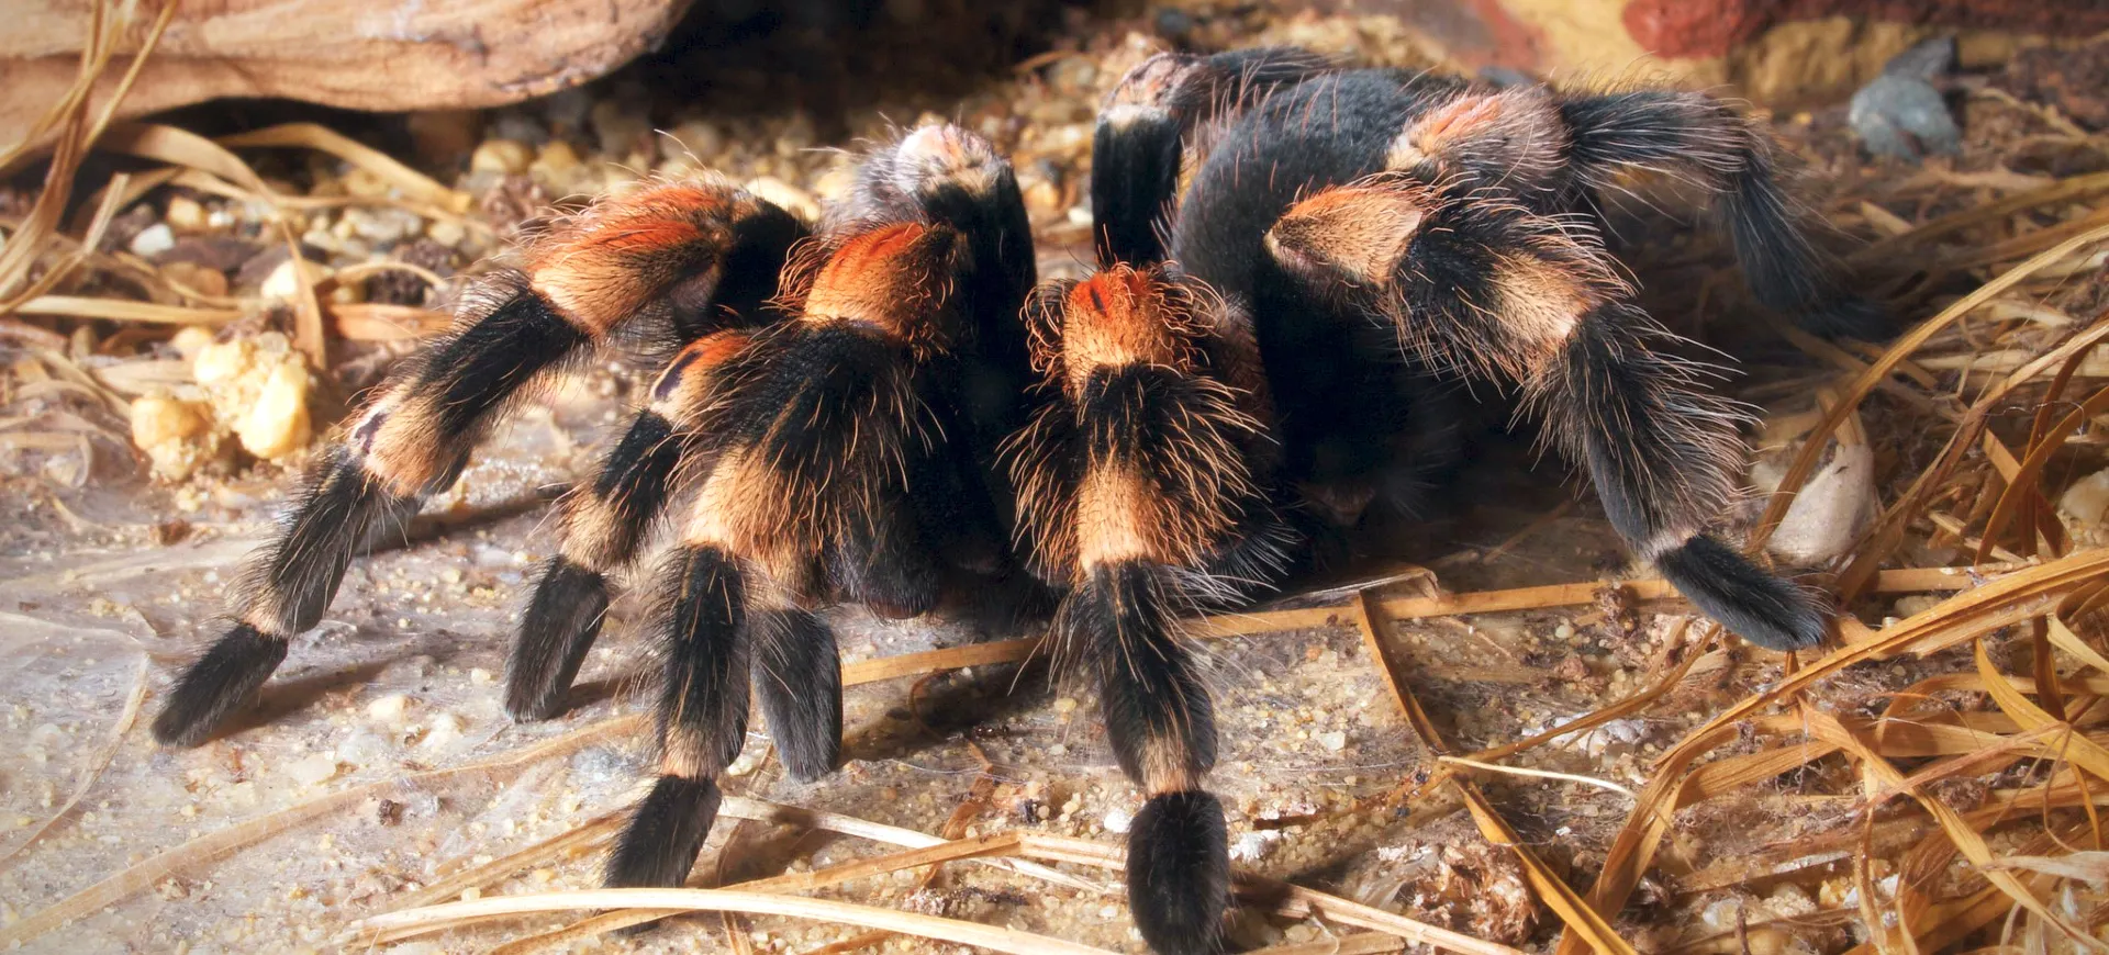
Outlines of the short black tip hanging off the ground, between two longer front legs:
M776 738L776 755L799 782L841 763L841 656L835 632L816 613L795 607L751 618L755 696Z

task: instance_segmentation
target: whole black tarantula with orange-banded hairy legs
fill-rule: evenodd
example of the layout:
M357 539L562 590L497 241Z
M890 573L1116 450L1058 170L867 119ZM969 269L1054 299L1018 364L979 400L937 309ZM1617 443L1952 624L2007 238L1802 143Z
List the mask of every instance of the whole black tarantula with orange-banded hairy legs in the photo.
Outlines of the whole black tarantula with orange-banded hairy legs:
M234 628L154 734L205 742L312 628L354 550L453 483L534 384L618 339L679 346L599 474L563 502L506 677L548 719L671 508L647 618L658 778L610 885L679 885L759 696L785 765L839 761L816 607L930 611L955 571L1029 571L1057 658L1092 679L1147 801L1128 896L1152 947L1221 944L1215 717L1179 620L1282 584L1327 525L1398 508L1457 388L1521 394L1632 548L1750 641L1826 613L1708 533L1742 413L1664 346L1599 238L1632 169L1708 188L1761 304L1879 329L1801 234L1772 145L1694 93L1561 95L1284 48L1158 55L1099 118L1099 268L1036 289L1008 162L955 126L863 158L820 223L719 181L603 198L481 285L458 325L316 462ZM1181 183L1183 194L1181 194Z

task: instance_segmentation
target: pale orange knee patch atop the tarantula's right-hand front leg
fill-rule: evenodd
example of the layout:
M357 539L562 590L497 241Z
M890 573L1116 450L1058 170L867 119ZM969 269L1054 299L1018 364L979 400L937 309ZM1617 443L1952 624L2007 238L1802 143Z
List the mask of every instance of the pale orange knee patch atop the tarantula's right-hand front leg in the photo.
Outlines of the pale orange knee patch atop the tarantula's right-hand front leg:
M1282 268L1308 280L1346 278L1381 289L1413 251L1428 215L1419 190L1341 186L1282 213L1265 247Z

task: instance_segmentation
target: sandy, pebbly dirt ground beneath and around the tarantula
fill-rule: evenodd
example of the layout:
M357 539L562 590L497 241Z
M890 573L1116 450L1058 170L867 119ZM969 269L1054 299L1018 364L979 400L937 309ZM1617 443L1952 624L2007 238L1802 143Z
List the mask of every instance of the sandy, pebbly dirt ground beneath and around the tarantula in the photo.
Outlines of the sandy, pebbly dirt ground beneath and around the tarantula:
M1415 63L1415 51L1373 21L1208 19L1185 27L1194 30L1192 42L1289 40L1365 61ZM441 175L477 196L472 215L494 223L489 234L439 230L434 219L418 223L426 230L422 240L359 242L367 236L365 219L318 213L310 236L327 240L344 232L337 249L323 249L335 268L365 257L403 259L420 242L437 245L420 251L426 255L420 261L451 278L500 247L540 202L618 183L622 169L635 175L692 162L736 179L766 177L791 200L812 200L839 188L844 160L829 148L934 112L991 133L1017 156L1044 272L1076 274L1088 253L1078 190L1097 91L1137 61L1152 42L1147 34L1166 23L1071 17L1065 30L1054 53L1027 70L936 84L936 93L907 91L898 99L879 89L875 101L816 112L671 105L656 99L652 84L654 70L666 65L639 67L582 95L481 118L479 137L464 148L512 139L536 156L529 171L462 173L456 160ZM738 61L728 70L759 67ZM1972 99L1963 116L1968 152L1940 167L1953 175L2048 181L2109 167L2109 154L2088 158L2079 148L2016 152L2014 141L2025 135L2012 126L2035 122L2025 108ZM637 135L639 129L645 133ZM664 139L654 129L669 131L679 148L654 145ZM1888 186L1926 173L1871 167L1856 156L1843 105L1780 116L1776 129L1820 183L1818 209L1852 234L1839 236L1841 242L1879 234L1881 211L1919 221L1987 194L1959 188L1888 202ZM378 129L373 137L399 143L405 158L424 148L445 150L415 124ZM574 150L565 152L584 156L565 164L548 143L569 143ZM356 186L344 181L350 175L342 167L272 162L285 164L268 175L304 194ZM1864 209L1869 202L1877 213ZM167 204L152 209L167 215ZM1647 211L1632 215L1634 223L1651 221ZM333 230L342 221L352 223ZM143 217L127 230L137 236L154 223ZM1748 360L1725 390L1759 405L1774 426L1816 407L1812 382L1829 382L1835 367L1782 346L1742 304L1742 293L1729 291L1734 282L1715 282L1723 266L1715 240L1691 230L1656 238L1645 226L1632 234L1649 236L1632 245L1656 314ZM2101 301L2082 299L2098 295L2098 282L2082 274L2054 301L2090 316L2082 310ZM371 287L367 295L380 299ZM1907 299L1907 318L1932 314L1938 295L1921 291ZM226 335L259 333L274 320L283 314ZM325 398L342 403L403 348L346 346L335 369L340 384ZM605 831L595 824L626 807L645 767L647 698L635 691L645 660L626 626L639 611L635 601L616 605L580 675L576 706L561 719L515 725L500 708L498 683L531 569L553 548L546 502L591 474L643 373L612 356L504 428L460 485L426 506L407 540L388 540L352 565L323 626L293 643L255 715L194 751L154 746L141 723L173 670L217 632L226 590L245 554L270 533L306 455L243 460L167 483L146 479L129 449L103 443L76 464L51 449L4 451L0 732L11 742L0 744L0 930L65 902L78 907L78 919L38 934L23 951L340 951L363 949L348 936L354 919L415 902L593 888L603 852L593 835ZM1862 420L1875 434L1879 489L1890 500L1909 483L1932 436L1915 432L1909 407L1892 409L1885 401L1877 396ZM1883 417L1892 411L1894 417ZM1767 434L1753 432L1753 443L1765 445ZM1791 445L1765 449L1776 460ZM2084 443L2079 464L2063 462L2058 481L2084 472L2092 453L2094 445ZM1396 540L1360 542L1354 561L1327 580L1305 582L1303 590L1320 592L1282 601L1343 607L1327 626L1211 641L1223 732L1211 788L1230 810L1240 871L1548 951L1559 921L1535 902L1514 856L1489 847L1455 805L1405 807L1390 799L1426 776L1430 753L1413 742L1343 590L1329 588L1400 578L1375 592L1417 597L1432 586L1476 592L1643 571L1628 567L1594 500L1523 441L1491 441L1459 487L1474 493ZM1911 550L1913 565L1955 554L1955 546ZM1852 609L1879 624L1921 609L1923 601L1930 597L1881 595ZM989 622L968 603L960 597L917 622L882 622L848 609L831 620L846 664L1033 632L1029 620ZM1611 586L1580 605L1390 620L1381 630L1413 694L1462 751L1521 740L1624 700L1702 649L1696 643L1702 626L1687 607L1637 605ZM1951 664L1900 660L1879 673L1856 670L1850 691L1839 694L1904 685ZM1647 784L1656 757L1713 713L1780 677L1778 654L1713 649L1643 713L1508 761L1599 784L1512 774L1483 774L1481 782L1533 854L1586 888L1632 812L1630 791ZM953 837L1029 829L1107 843L1118 843L1141 805L1114 765L1095 704L1040 664L856 685L848 691L846 736L841 772L797 784L770 759L757 721L725 788L917 833L941 833L947 824ZM1858 911L1847 898L1850 871L1778 883L1744 877L1761 860L1797 858L1799 835L1831 831L1852 810L1850 774L1812 763L1761 782L1744 801L1681 816L1660 869L1643 881L1620 930L1645 951L1742 944L1831 953L1862 942L1864 934L1839 917ZM728 885L890 852L831 829L723 818L692 883ZM582 835L544 845L567 833ZM519 864L504 862L521 852ZM491 877L466 890L449 883L485 866ZM1048 883L998 864L949 864L934 877L901 871L818 896L1141 951L1116 873L1063 873L1067 883ZM1877 871L1875 879L1892 875ZM445 896L434 896L432 885ZM569 915L496 919L380 949L489 951L569 921ZM1744 928L1738 942L1738 925L1757 923L1788 928L1755 942ZM1346 934L1324 919L1249 913L1232 940L1263 949ZM685 915L658 932L586 936L555 949L808 953L860 936L823 921ZM867 951L945 949L901 936L863 942Z

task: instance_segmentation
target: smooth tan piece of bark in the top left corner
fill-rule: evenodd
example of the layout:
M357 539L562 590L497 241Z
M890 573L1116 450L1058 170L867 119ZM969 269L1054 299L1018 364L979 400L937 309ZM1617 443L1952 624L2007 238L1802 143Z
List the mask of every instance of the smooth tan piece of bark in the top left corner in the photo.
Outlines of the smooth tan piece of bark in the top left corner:
M451 110L593 80L658 46L692 0L186 0L118 116L219 97ZM17 4L0 30L0 150L74 84L95 0ZM122 4L112 4L122 8ZM158 13L141 0L99 95Z

